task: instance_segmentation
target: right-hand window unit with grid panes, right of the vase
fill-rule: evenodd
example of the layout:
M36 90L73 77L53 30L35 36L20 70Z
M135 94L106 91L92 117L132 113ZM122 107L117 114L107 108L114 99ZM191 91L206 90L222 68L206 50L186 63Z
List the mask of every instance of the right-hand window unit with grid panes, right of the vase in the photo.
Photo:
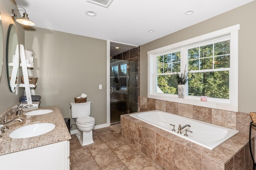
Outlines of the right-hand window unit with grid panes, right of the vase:
M188 95L229 99L230 37L188 48Z

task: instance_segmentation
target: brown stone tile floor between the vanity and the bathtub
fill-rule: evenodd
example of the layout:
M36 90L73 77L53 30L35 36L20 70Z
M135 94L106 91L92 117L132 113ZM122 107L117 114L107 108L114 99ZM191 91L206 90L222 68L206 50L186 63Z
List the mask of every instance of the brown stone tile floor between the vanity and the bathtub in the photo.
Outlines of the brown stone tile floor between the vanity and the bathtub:
M163 170L138 149L124 142L120 124L92 131L94 143L81 146L71 135L71 170Z

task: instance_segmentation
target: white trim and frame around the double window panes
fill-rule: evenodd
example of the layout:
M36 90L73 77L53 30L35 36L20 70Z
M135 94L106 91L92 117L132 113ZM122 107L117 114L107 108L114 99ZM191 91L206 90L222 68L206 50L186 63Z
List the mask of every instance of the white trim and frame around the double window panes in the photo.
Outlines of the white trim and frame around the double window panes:
M174 43L165 47L148 51L148 98L166 100L182 104L190 104L195 106L210 107L214 109L222 109L227 111L238 112L238 30L240 24L220 29L212 33L200 35L185 41ZM200 96L185 96L185 98L178 98L178 95L160 94L156 93L156 80L154 78L154 66L156 66L155 55L166 53L167 51L176 51L181 47L193 45L196 43L217 39L230 35L230 99L218 99L217 101L200 101ZM184 70L181 65L181 70ZM214 98L212 98L214 99Z

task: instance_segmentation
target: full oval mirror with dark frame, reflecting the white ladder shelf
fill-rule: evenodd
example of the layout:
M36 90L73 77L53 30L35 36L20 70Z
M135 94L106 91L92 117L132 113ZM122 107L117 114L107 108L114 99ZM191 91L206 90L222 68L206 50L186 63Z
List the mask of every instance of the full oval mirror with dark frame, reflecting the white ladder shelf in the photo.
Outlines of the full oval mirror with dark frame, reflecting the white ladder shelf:
M15 92L18 84L19 72L19 46L18 35L14 24L10 24L6 49L7 77L10 90Z

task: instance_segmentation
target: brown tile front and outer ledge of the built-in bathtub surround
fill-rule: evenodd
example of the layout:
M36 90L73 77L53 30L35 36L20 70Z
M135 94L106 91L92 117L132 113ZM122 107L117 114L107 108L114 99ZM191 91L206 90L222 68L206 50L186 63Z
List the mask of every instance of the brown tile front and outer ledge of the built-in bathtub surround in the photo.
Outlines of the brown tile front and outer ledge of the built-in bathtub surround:
M249 136L238 133L213 150L173 135L144 121L121 115L126 142L168 170L249 170ZM254 144L254 137L251 139ZM254 149L254 145L252 146Z

